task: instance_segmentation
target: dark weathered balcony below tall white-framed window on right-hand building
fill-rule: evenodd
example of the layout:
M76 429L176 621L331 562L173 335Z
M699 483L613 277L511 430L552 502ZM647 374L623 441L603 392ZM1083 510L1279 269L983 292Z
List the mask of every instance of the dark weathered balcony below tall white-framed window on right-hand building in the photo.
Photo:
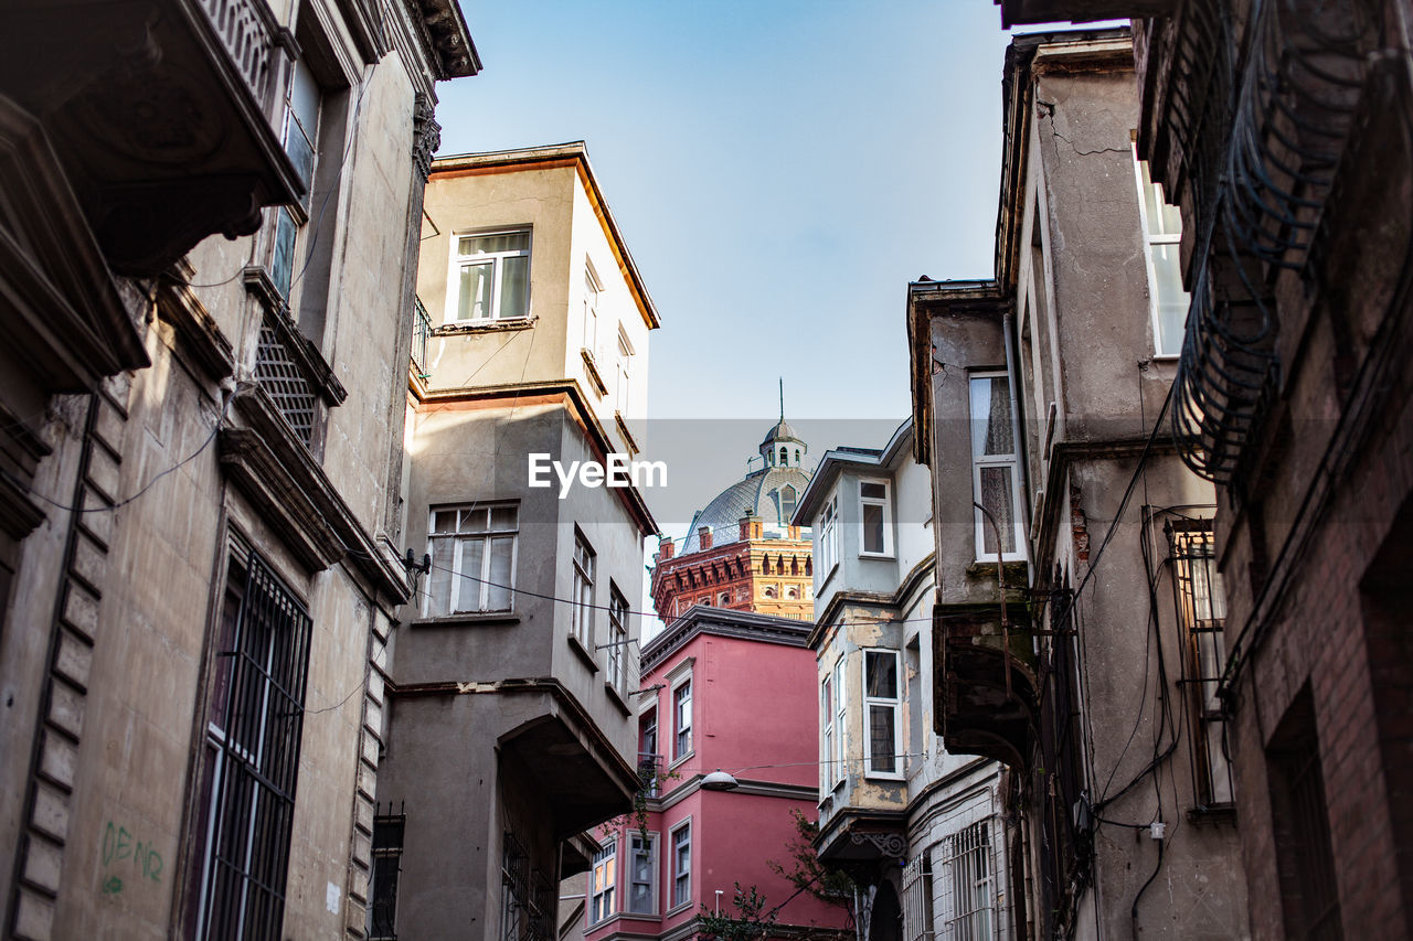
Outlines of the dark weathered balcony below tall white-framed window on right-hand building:
M981 754L1024 767L1039 716L1036 657L1023 598L1007 592L1003 627L996 605L937 605L933 610L937 730L954 754Z

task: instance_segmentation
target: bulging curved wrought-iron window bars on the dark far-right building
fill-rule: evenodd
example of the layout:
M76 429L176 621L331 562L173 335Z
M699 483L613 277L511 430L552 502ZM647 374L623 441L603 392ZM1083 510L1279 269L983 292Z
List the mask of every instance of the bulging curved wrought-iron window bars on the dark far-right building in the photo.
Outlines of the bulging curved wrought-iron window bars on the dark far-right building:
M1255 0L1235 85L1222 4L1190 0L1178 28L1174 69L1194 71L1169 127L1200 230L1171 421L1184 462L1225 483L1279 383L1272 285L1306 266L1376 27L1365 0Z

